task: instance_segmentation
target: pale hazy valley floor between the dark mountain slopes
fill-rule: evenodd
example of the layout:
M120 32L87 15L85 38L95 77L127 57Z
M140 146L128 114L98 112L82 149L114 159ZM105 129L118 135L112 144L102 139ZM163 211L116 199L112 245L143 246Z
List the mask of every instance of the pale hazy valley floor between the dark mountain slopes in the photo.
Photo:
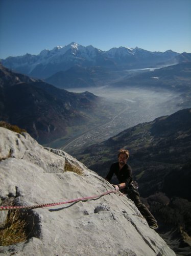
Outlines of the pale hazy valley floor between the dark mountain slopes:
M74 152L80 147L101 142L138 123L148 122L156 117L170 115L185 106L184 95L180 92L165 89L143 89L140 87L111 88L76 88L71 92L89 92L104 97L107 104L115 104L115 112L105 124L98 125L64 145L66 152ZM190 103L186 102L186 107Z

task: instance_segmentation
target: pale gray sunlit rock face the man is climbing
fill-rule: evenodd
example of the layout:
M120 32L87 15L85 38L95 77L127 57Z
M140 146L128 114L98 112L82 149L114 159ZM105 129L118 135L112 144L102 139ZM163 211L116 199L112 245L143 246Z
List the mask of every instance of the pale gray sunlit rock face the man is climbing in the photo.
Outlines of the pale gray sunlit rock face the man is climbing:
M113 189L67 153L44 148L27 133L0 127L0 136L1 204L8 197L19 205L63 202ZM67 172L68 163L83 175ZM1 223L5 215L0 211ZM30 215L30 238L1 246L4 255L175 255L134 203L118 194L32 209Z

